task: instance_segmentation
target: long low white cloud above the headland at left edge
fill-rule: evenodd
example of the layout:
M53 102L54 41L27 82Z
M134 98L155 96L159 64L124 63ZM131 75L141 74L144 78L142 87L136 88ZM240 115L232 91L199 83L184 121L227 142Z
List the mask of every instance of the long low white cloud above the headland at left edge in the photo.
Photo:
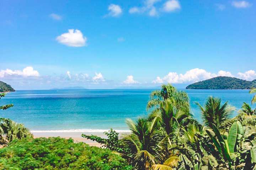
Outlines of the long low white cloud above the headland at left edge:
M0 71L0 78L6 77L38 77L39 73L37 70L34 70L33 67L26 67L23 70L1 70Z

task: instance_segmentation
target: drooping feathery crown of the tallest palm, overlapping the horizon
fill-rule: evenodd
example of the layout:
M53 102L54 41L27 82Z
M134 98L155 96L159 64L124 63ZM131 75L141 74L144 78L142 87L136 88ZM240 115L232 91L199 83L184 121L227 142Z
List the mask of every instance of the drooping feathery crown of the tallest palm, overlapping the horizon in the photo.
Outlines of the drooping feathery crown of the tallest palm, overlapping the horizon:
M167 99L170 100L177 110L182 109L184 112L189 112L190 105L187 93L184 91L177 91L171 84L162 85L161 90L153 91L150 95L147 108L159 109L161 102Z

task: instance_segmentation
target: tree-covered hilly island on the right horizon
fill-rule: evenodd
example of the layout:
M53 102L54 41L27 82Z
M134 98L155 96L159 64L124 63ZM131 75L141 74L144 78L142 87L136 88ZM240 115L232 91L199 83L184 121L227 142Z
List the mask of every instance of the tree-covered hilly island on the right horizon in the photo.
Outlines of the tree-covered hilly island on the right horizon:
M256 87L256 79L246 81L234 77L215 77L188 85L186 89L251 89Z

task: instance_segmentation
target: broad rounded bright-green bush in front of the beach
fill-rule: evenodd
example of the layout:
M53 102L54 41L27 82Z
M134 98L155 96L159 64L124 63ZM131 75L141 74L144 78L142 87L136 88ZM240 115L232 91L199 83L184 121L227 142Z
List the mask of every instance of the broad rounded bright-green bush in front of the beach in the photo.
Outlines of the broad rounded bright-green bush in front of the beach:
M74 143L70 138L24 138L0 149L0 169L130 170L126 160L108 149Z

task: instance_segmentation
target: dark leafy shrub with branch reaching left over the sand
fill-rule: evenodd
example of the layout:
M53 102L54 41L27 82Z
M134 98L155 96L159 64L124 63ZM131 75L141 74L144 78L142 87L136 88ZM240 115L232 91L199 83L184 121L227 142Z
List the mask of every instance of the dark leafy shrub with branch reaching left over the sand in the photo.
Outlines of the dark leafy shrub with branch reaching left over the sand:
M124 153L124 154L127 153L128 147L123 142L123 140L118 139L119 133L117 133L111 128L108 132L104 132L104 134L108 137L107 139L98 137L96 135L85 135L85 134L82 134L82 137L102 144L103 148L107 148L119 153Z

